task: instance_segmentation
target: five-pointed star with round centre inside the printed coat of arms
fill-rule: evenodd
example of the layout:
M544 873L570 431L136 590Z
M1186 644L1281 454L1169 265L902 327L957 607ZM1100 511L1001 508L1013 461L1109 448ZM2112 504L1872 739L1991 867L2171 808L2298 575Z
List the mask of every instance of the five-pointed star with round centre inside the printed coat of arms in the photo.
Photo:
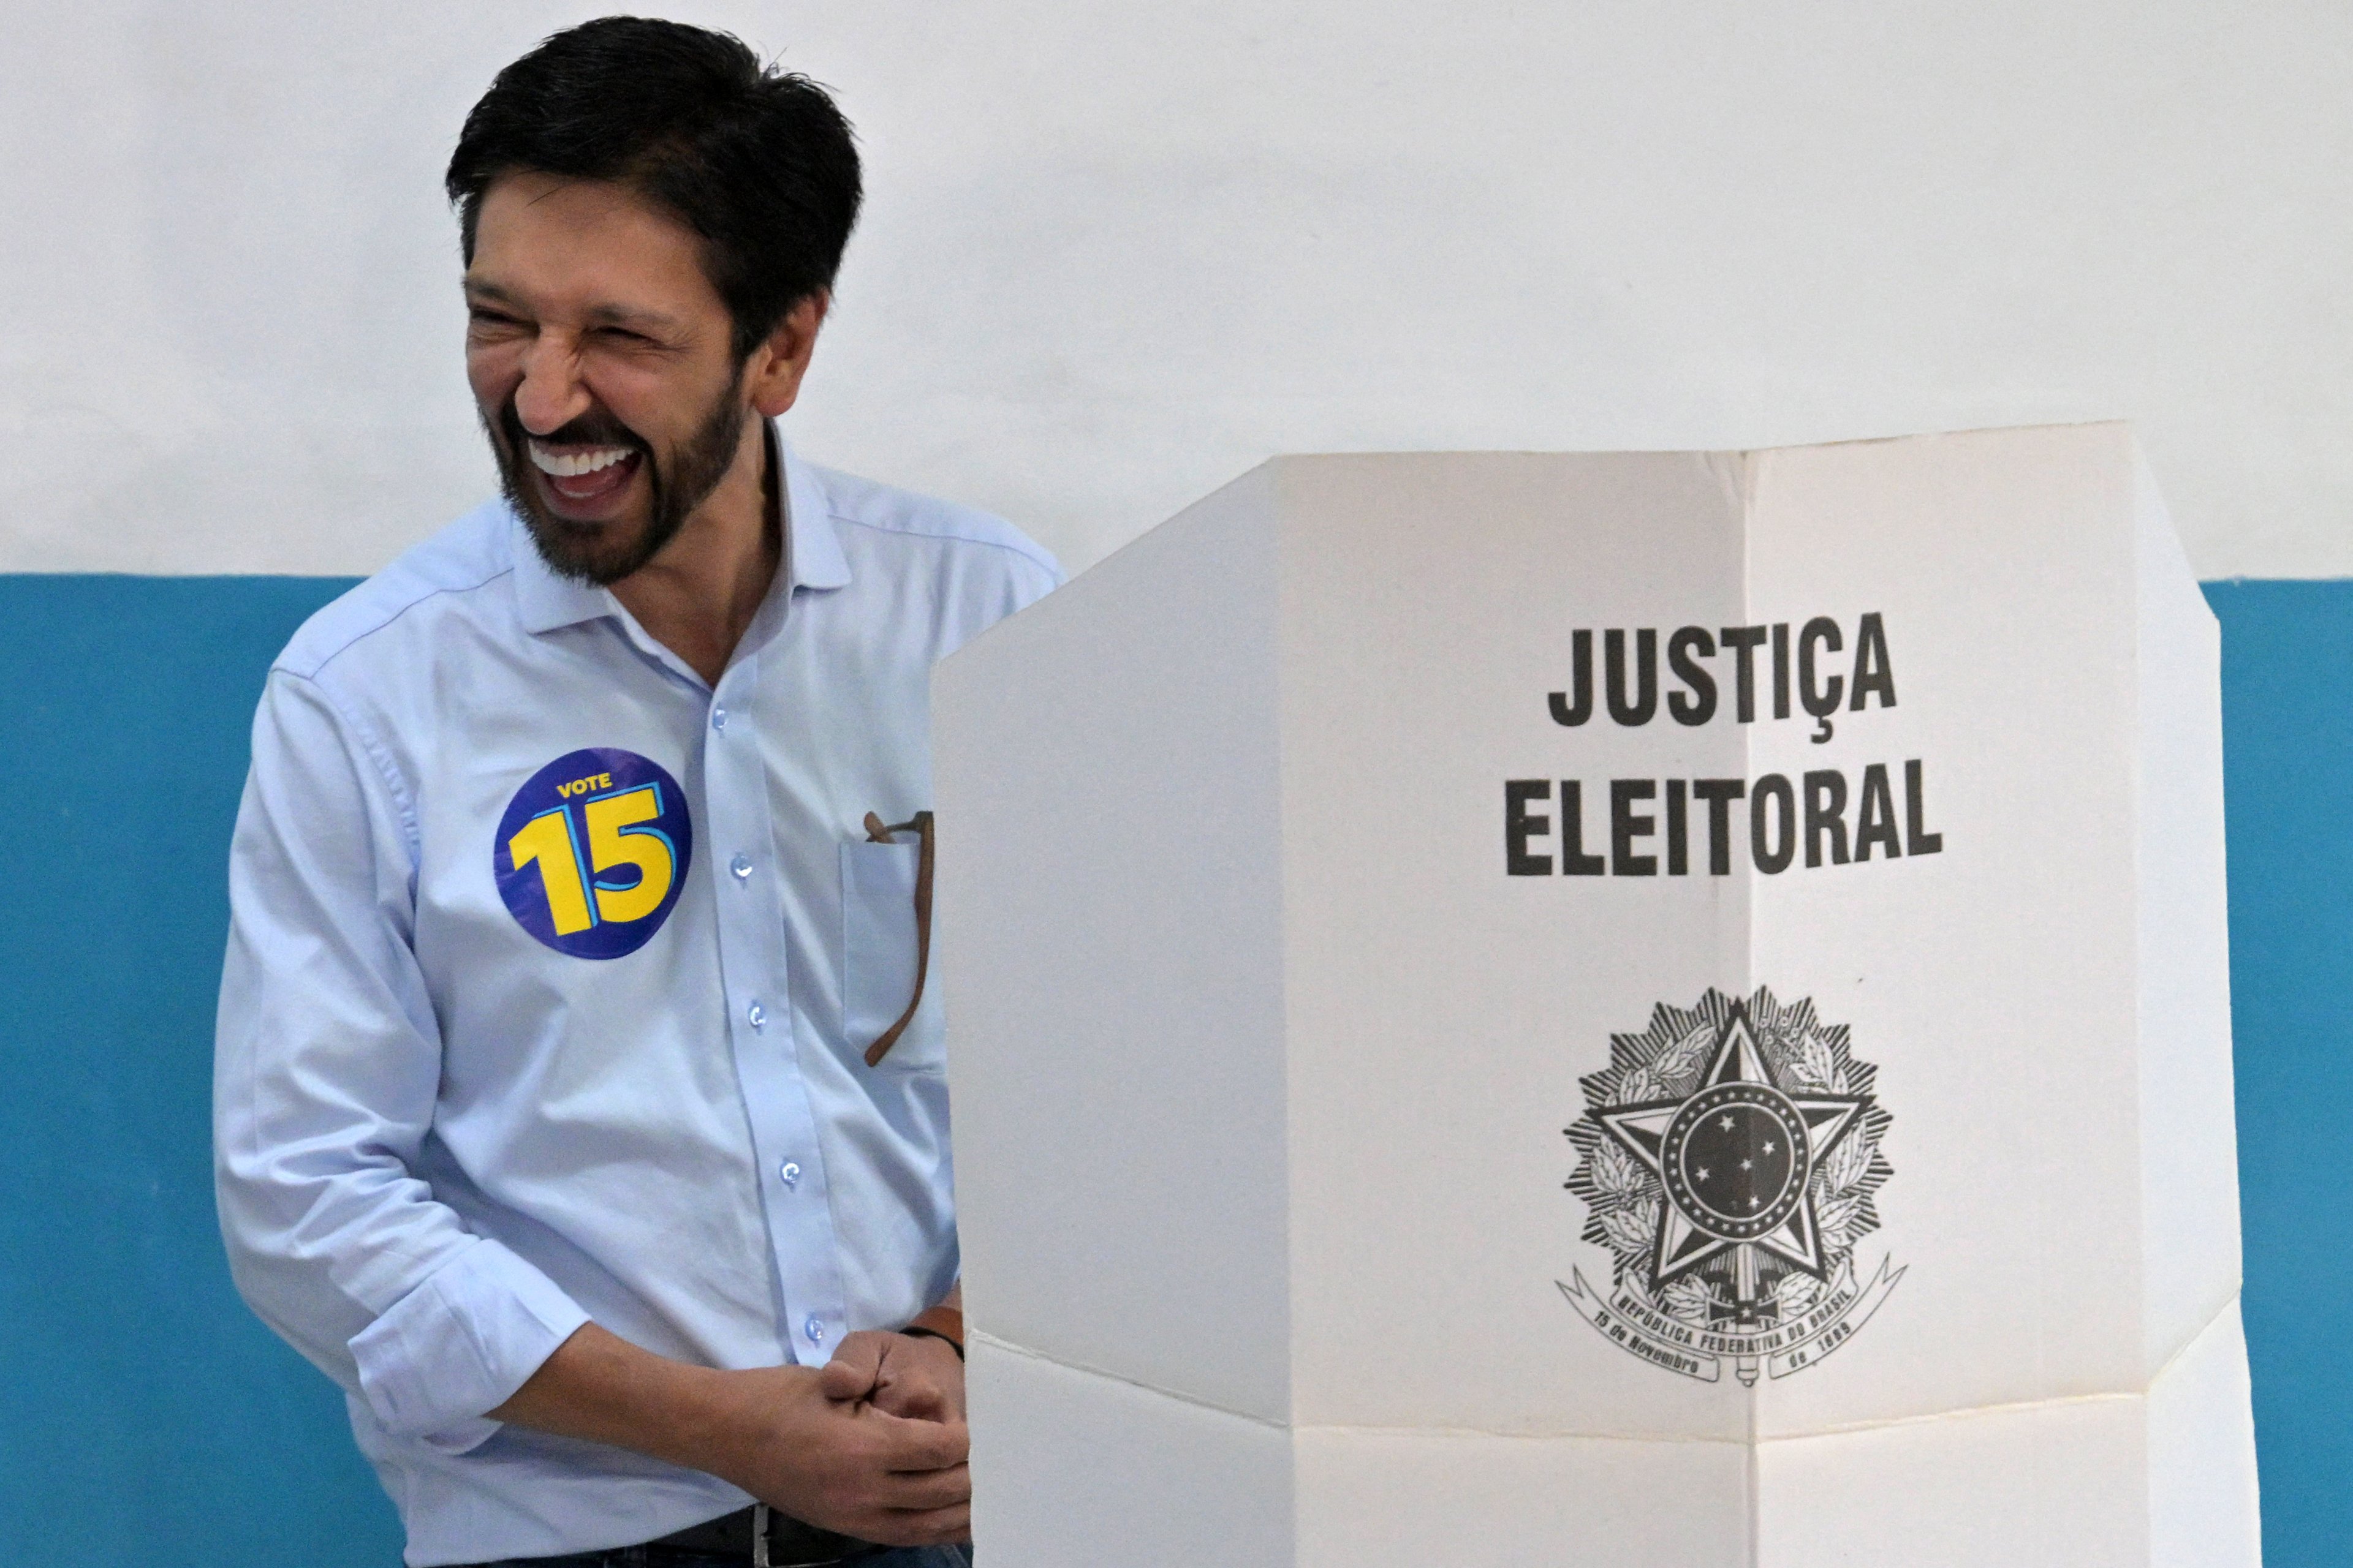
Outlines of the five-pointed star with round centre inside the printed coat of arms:
M1824 1279L1812 1175L1854 1131L1864 1105L1861 1095L1774 1084L1748 1009L1734 1004L1689 1095L1598 1107L1593 1117L1609 1140L1666 1187L1649 1288L1722 1253L1734 1253L1744 1284L1753 1281L1758 1251Z

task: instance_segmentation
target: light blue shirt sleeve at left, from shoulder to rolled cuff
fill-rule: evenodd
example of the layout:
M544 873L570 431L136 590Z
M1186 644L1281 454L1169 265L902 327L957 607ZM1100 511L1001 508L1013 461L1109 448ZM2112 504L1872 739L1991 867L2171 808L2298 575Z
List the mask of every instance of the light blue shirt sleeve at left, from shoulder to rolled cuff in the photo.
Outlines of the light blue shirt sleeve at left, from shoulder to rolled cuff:
M400 773L278 670L231 849L214 1187L252 1309L391 1432L478 1446L588 1314L414 1175L440 1034Z

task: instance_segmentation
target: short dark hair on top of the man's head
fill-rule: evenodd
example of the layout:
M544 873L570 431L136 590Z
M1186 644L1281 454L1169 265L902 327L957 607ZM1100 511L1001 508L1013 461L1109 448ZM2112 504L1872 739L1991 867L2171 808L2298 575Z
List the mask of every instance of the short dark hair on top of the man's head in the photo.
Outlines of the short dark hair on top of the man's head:
M833 284L859 221L859 153L826 89L682 21L584 21L499 73L442 181L468 263L482 193L520 172L628 186L701 235L736 362Z

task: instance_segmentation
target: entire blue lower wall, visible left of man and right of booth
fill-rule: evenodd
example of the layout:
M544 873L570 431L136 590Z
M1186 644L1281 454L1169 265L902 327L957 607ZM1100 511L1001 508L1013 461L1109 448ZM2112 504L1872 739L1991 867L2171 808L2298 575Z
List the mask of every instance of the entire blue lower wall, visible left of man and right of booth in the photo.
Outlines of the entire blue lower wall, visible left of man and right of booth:
M212 1215L224 846L339 578L0 576L0 1563L391 1568L341 1396ZM2353 583L2217 583L2247 1338L2273 1568L2353 1540Z

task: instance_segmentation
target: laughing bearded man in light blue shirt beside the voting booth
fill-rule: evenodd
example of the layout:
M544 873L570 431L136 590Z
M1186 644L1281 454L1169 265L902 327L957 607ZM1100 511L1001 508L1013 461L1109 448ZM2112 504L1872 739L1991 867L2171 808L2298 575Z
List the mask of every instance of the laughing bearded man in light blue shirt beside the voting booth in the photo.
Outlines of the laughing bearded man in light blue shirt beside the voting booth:
M409 1563L962 1563L927 679L1054 562L776 440L859 207L805 78L593 21L447 186L506 501L271 670L238 1286L344 1385Z

